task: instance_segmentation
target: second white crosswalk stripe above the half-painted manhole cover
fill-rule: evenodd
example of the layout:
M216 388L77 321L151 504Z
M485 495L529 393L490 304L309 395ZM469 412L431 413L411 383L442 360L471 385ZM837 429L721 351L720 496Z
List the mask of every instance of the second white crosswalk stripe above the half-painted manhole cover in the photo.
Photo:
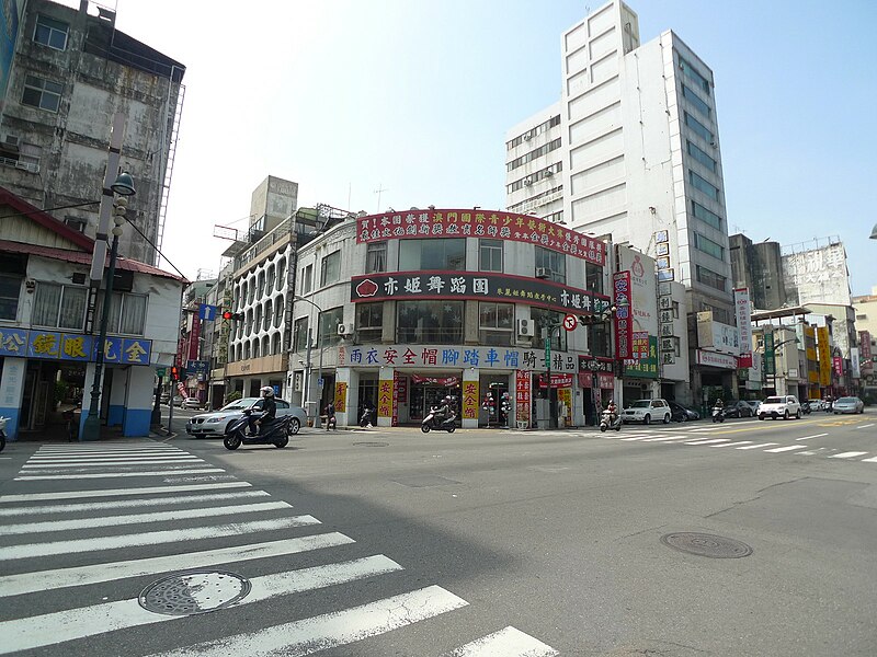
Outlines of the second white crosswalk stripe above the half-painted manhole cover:
M212 527L192 527L187 529L168 529L136 534L119 534L114 537L95 537L92 539L72 539L68 541L53 541L50 543L26 543L0 548L0 561L16 558L32 558L33 556L53 556L73 552L100 552L103 550L117 550L119 548L134 548L144 545L159 545L161 543L180 543L200 539L218 539L223 537L239 537L260 531L277 531L292 527L308 527L320 525L314 516L293 516L275 520L253 520L250 522L229 522Z

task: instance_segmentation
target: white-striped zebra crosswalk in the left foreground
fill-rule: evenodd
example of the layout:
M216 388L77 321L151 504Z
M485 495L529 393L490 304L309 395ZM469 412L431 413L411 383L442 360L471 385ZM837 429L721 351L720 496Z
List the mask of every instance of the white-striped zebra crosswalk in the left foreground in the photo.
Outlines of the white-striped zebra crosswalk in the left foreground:
M46 489L49 481L53 489ZM127 481L136 485L126 486ZM7 489L0 495L3 655L89 654L89 642L98 639L104 646L110 641L116 654L139 655L132 635L143 629L151 629L153 641L145 649L155 657L311 655L351 644L357 655L378 655L369 639L465 613L470 606L441 584L420 579L413 586L396 579L389 595L376 595L377 586L362 583L403 577L403 564L357 553L354 538L321 530L307 509L164 443L43 446ZM166 579L169 589L161 588ZM152 586L173 591L161 599L168 609L184 600L189 611L156 607L153 593L147 593ZM338 592L344 587L360 587L350 606L337 602L348 599ZM95 590L107 595L95 600ZM306 618L269 614L264 626L253 629L223 615L265 601L286 608L295 596L330 590L326 604L335 608ZM180 623L183 619L187 622ZM512 625L485 627L479 635L470 624L459 621L457 647L446 645L448 638L431 641L429 630L408 641L422 643L418 654L436 657L433 649L444 657L558 655ZM221 631L181 646L172 630L181 625ZM156 643L156 636L163 641Z

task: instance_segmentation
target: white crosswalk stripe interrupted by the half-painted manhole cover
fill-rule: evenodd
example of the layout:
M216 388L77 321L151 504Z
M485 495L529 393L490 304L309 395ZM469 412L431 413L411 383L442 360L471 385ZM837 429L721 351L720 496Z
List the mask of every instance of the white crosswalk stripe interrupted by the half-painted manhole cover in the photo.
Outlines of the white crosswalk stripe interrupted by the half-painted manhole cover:
M229 604L228 609L401 569L402 566L395 561L378 554L326 566L314 566L301 568L300 570L253 577L250 579L252 588L247 597ZM0 654L57 645L114 630L168 623L182 619L189 620L190 616L155 613L140 607L137 598L129 598L127 600L5 621L0 623L0 632L3 636ZM253 650L226 653L226 655L253 654Z

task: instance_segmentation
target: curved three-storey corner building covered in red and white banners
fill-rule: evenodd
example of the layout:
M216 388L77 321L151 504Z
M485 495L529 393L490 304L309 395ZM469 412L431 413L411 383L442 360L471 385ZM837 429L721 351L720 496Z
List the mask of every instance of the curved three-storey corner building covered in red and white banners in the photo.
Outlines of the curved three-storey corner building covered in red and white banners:
M367 401L391 426L449 394L463 427L593 422L615 394L610 323L562 322L610 308L607 253L505 211L350 217L298 250L293 403L354 424Z

